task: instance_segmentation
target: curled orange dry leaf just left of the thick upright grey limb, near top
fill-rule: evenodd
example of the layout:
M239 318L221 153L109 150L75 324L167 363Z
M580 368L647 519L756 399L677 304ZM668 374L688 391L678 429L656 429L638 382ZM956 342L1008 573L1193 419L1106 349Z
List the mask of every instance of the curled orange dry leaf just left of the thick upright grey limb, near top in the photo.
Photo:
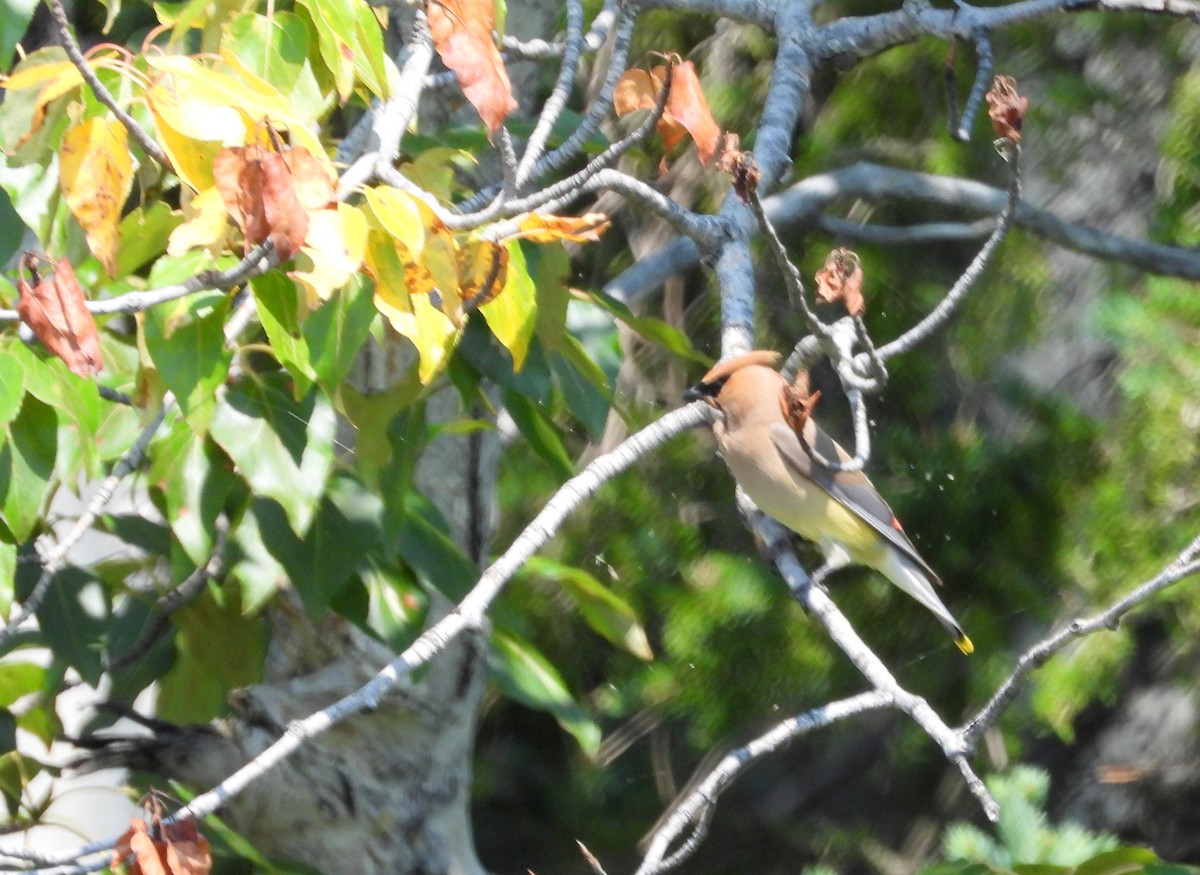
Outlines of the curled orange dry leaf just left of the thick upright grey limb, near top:
M708 167L716 155L721 138L721 128L713 119L713 113L700 88L700 78L691 61L671 66L671 94L667 106L659 119L659 136L667 151L674 149L690 136L696 143L700 161ZM654 109L659 95L667 79L667 67L646 70L626 70L617 80L613 92L613 108L617 115L625 115L636 109Z

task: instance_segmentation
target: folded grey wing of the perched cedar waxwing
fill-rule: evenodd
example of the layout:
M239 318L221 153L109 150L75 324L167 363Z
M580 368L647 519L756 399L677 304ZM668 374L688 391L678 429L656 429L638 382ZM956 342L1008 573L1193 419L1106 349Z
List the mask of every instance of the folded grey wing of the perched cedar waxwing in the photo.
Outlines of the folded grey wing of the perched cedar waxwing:
M842 462L851 459L850 454L839 447L838 442L829 437L814 420L808 421L805 431L812 448L822 459L835 459ZM912 545L908 535L900 527L896 515L892 513L892 508L883 501L878 490L871 485L866 474L860 471L834 472L817 465L804 449L796 432L782 422L773 424L769 432L772 443L775 444L775 449L779 450L779 455L787 467L802 478L815 483L833 496L834 501L870 525L901 553L912 559L935 583L942 582L929 563L917 552L917 547Z

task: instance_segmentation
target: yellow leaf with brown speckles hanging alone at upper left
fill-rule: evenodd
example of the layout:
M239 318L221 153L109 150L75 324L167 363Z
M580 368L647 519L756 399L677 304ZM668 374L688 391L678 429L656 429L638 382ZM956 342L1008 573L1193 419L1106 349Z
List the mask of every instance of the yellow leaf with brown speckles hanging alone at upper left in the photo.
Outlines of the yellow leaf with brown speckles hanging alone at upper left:
M133 157L119 121L88 119L67 131L59 149L60 185L92 254L116 274L118 224L133 181Z

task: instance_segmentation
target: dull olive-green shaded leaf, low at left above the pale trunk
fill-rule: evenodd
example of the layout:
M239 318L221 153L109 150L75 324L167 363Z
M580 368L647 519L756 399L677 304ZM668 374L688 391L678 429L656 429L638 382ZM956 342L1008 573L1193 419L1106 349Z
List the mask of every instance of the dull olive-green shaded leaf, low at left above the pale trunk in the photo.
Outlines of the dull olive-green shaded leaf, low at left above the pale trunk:
M266 628L246 617L236 599L218 605L211 593L176 611L179 657L158 683L157 717L179 724L204 723L224 709L229 690L263 676Z

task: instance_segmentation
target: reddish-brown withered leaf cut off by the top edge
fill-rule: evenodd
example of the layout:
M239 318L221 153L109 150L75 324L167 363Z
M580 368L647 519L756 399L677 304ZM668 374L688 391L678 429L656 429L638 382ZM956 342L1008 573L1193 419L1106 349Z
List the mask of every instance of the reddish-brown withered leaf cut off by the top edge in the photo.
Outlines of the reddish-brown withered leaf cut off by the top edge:
M427 0L430 32L438 56L458 77L462 92L494 137L517 108L504 59L496 48L492 0Z

